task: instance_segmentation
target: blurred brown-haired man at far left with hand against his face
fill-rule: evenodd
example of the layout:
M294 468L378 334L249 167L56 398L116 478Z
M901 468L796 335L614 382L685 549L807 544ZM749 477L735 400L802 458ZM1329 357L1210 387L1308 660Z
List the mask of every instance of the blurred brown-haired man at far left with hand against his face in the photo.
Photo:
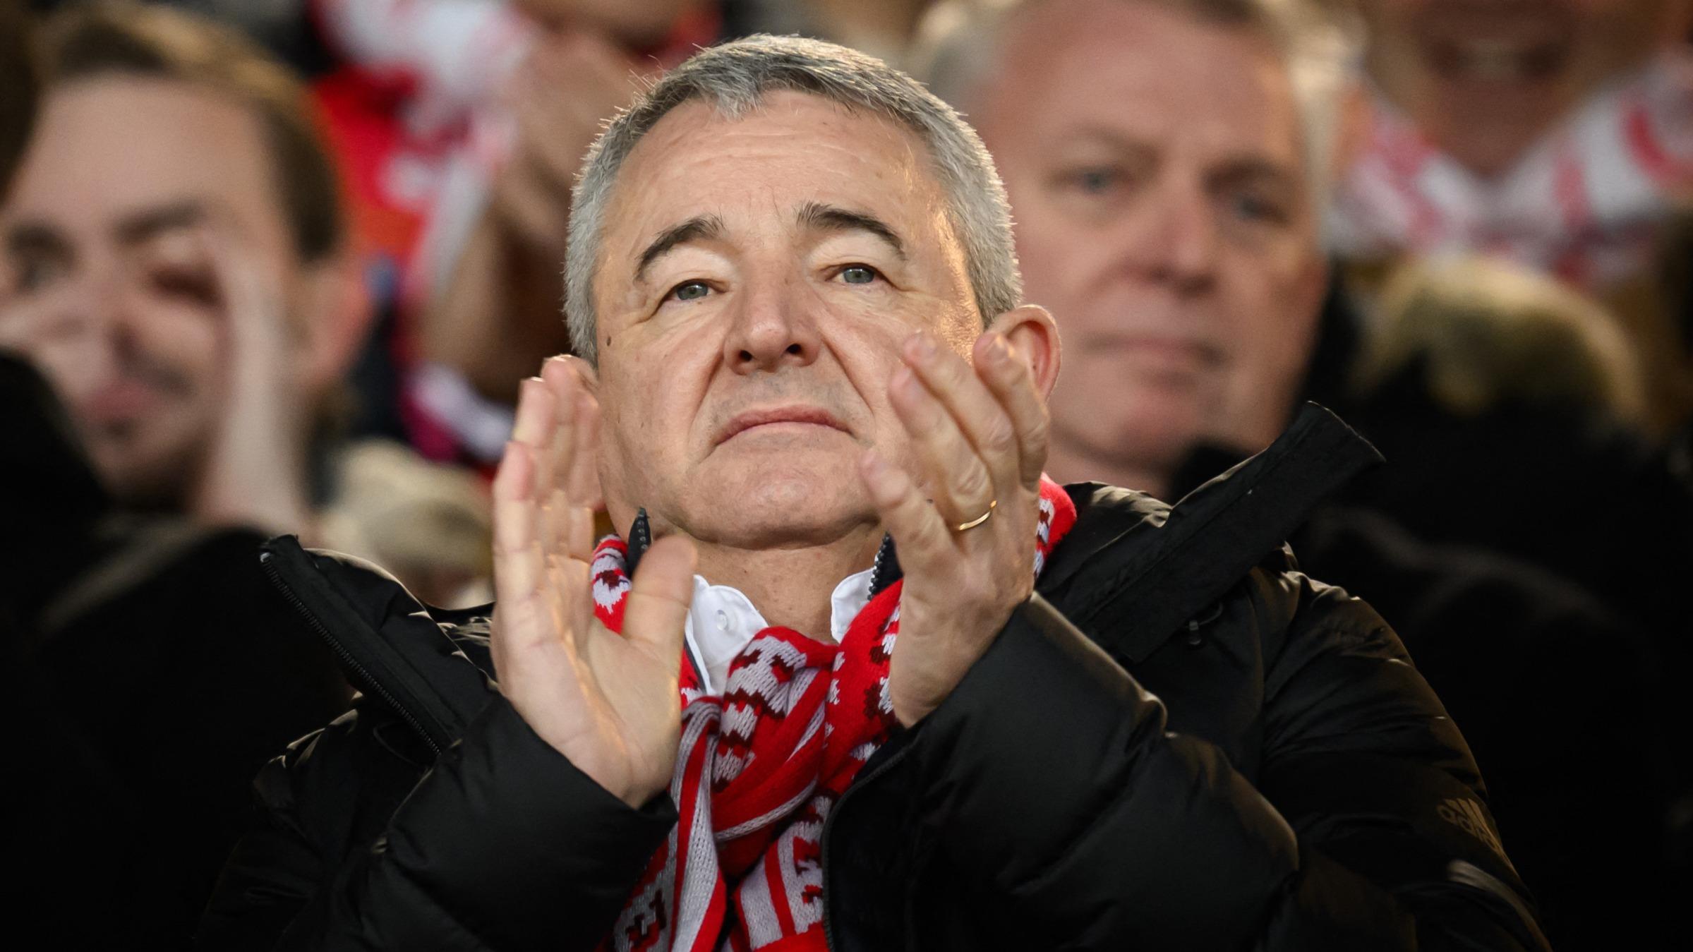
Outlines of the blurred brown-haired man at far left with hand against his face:
M0 190L0 693L7 844L29 871L14 901L61 947L179 949L254 772L347 703L261 573L262 535L229 525L300 515L288 388L296 352L322 351L264 291L308 296L281 196L322 196L291 191L293 163L328 173L301 159L306 125L256 105L284 75L137 7L49 24L30 136L34 58L15 7L0 14L0 69L24 71L0 81L0 185L30 141ZM340 227L327 181L300 217L313 251Z

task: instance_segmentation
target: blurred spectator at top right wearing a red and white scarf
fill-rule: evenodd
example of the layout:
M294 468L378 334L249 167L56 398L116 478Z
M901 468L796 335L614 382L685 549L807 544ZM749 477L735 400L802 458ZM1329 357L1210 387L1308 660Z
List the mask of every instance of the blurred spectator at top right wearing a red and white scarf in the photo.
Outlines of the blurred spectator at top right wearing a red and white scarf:
M1586 288L1642 271L1693 188L1685 0L1358 0L1348 257L1478 251Z

